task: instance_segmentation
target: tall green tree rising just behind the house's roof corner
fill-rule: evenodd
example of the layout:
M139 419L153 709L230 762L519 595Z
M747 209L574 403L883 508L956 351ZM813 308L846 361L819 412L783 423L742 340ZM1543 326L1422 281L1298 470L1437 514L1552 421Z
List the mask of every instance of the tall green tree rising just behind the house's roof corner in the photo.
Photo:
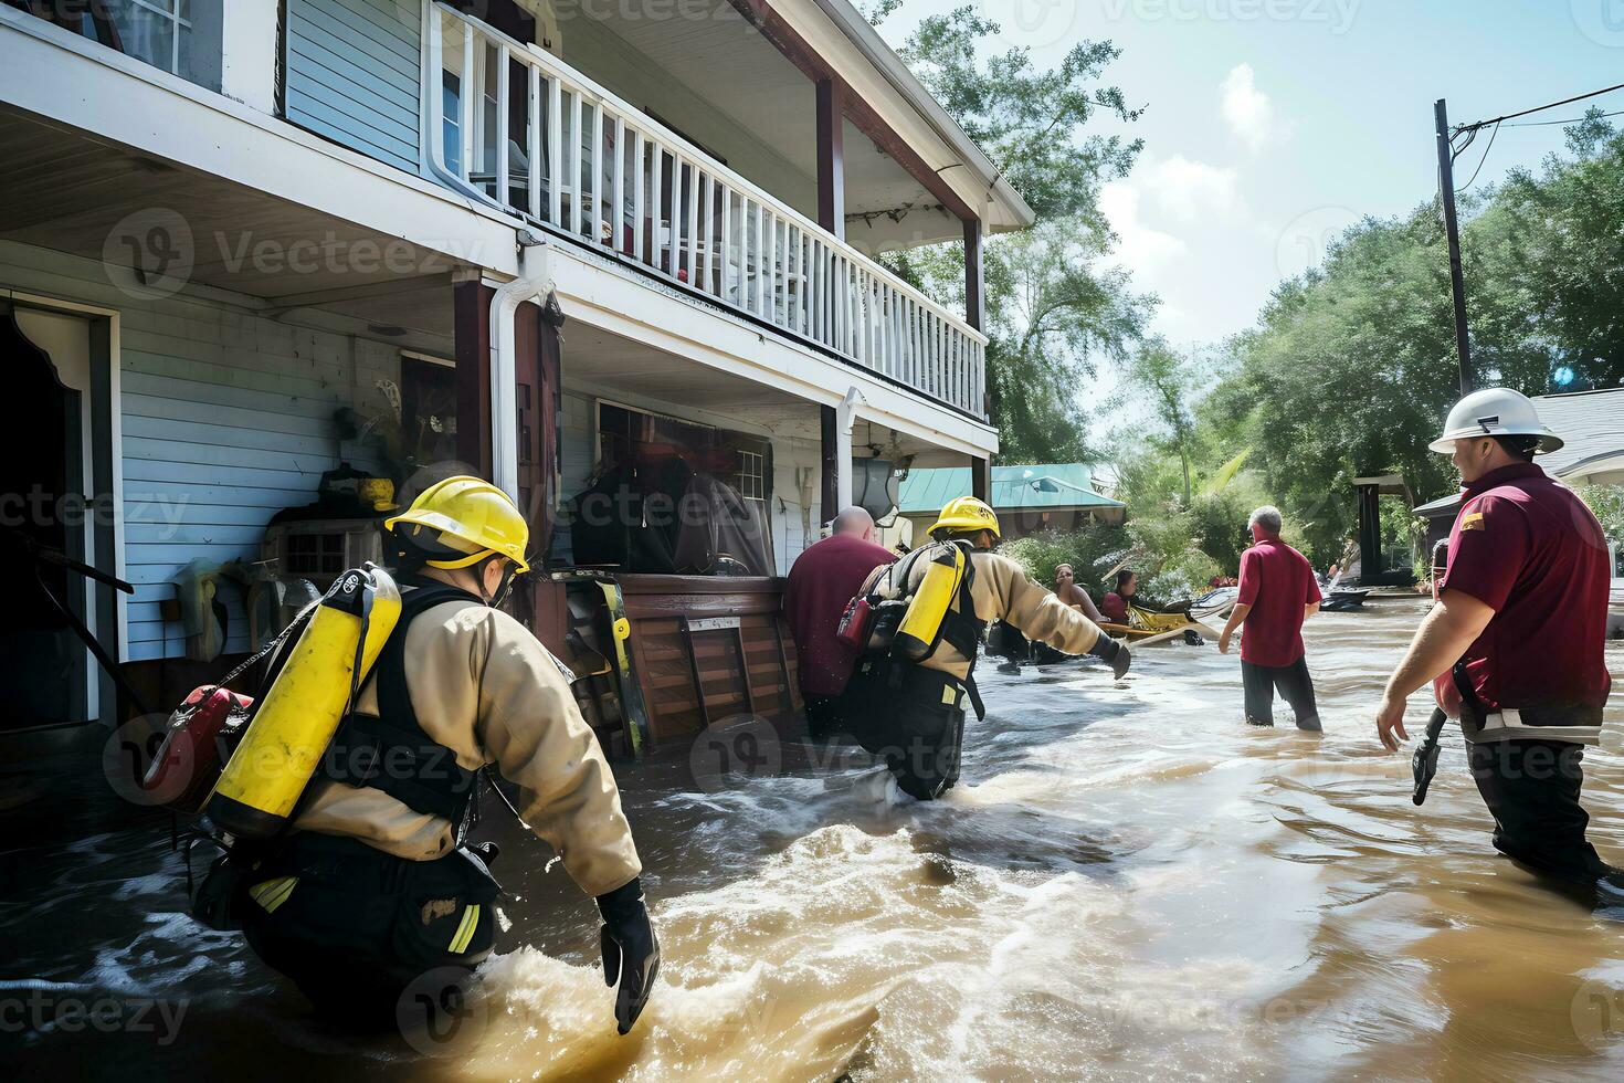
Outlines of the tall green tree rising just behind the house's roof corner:
M870 18L895 6L883 0ZM997 31L961 6L924 18L900 54L1038 219L1031 231L989 239L983 253L987 398L1002 458L1088 460L1078 388L1101 360L1125 359L1155 305L1111 266L1116 237L1098 206L1099 188L1132 169L1142 141L1088 127L1142 110L1103 83L1119 55L1111 42L1078 42L1057 67L1039 68L1025 49L992 54ZM963 304L961 244L883 261L937 300Z

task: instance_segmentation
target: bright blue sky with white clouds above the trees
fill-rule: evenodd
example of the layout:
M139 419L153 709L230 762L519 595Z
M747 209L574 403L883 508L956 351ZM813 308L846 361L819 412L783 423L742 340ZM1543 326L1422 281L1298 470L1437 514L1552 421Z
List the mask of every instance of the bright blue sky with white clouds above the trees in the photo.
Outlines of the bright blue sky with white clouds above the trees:
M1153 330L1181 346L1250 326L1363 216L1431 198L1439 97L1462 123L1624 83L1624 0L905 0L880 32L900 45L965 2L1044 67L1082 39L1122 49L1106 80L1145 115L1099 130L1145 151L1101 203L1119 261L1161 296ZM1587 104L1624 109L1624 91ZM1478 185L1562 146L1561 127L1504 128Z

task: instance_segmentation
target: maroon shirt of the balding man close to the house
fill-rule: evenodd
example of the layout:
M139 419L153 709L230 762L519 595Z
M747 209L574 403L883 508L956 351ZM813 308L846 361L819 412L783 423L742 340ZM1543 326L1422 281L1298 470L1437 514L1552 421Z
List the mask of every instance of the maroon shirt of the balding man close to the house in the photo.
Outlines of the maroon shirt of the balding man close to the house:
M853 534L833 534L796 557L784 585L784 619L796 640L801 695L840 695L856 658L836 640L840 619L869 572L896 554Z

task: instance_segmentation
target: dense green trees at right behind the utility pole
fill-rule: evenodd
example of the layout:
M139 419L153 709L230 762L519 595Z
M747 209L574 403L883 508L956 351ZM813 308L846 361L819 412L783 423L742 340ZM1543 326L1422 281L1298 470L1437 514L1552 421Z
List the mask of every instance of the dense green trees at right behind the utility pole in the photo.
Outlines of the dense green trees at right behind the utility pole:
M1624 378L1624 136L1593 117L1569 145L1574 156L1465 205L1478 386L1544 395ZM1460 396L1436 201L1350 229L1228 352L1195 411L1197 471L1252 448L1249 469L1315 562L1354 528L1354 477L1402 472L1415 502L1457 484L1426 447Z

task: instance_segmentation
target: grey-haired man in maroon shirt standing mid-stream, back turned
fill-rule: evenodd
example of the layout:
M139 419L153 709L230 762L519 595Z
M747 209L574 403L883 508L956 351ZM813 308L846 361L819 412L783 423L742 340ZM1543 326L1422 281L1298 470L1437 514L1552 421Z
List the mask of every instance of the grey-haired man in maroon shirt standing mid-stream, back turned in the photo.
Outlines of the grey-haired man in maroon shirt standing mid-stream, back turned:
M1314 679L1302 646L1302 622L1319 612L1319 581L1307 557L1280 541L1280 508L1252 511L1250 549L1241 554L1241 593L1229 623L1218 636L1218 651L1229 653L1229 636L1242 623L1241 685L1246 688L1246 721L1275 724L1275 692L1291 705L1298 729L1319 732Z

